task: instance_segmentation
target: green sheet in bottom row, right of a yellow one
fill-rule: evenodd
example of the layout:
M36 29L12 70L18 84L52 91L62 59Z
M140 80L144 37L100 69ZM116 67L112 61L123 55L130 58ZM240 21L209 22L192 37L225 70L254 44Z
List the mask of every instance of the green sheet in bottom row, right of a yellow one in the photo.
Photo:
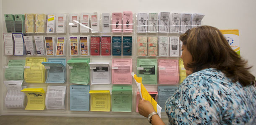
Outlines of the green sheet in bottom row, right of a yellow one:
M132 111L132 86L114 85L112 87L112 111L131 112Z

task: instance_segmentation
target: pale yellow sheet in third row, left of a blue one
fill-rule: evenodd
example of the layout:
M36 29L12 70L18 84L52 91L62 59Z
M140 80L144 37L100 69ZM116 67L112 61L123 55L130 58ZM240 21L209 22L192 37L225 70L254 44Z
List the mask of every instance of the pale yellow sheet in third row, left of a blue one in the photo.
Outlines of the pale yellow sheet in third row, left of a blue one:
M45 69L42 62L46 62L45 57L26 57L24 79L26 82L44 83Z

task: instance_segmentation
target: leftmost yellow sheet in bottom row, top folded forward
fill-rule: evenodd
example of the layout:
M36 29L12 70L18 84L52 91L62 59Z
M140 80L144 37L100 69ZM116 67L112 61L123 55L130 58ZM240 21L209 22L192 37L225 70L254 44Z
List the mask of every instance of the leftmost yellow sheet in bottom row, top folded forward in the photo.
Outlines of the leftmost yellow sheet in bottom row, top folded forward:
M24 92L28 98L25 110L44 110L45 92L43 88L24 88L21 92Z

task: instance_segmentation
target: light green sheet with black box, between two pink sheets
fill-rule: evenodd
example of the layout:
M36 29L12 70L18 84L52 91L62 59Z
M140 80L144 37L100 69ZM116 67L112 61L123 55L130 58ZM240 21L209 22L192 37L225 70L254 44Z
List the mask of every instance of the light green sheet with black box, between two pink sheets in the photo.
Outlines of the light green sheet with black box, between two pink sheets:
M157 84L157 59L137 59L137 75L142 84Z

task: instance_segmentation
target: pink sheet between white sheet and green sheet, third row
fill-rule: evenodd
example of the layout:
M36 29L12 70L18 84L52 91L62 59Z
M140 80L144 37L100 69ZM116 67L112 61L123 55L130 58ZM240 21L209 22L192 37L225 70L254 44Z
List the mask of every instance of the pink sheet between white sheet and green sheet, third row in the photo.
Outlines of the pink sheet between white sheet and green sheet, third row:
M132 84L132 59L112 59L112 84Z

